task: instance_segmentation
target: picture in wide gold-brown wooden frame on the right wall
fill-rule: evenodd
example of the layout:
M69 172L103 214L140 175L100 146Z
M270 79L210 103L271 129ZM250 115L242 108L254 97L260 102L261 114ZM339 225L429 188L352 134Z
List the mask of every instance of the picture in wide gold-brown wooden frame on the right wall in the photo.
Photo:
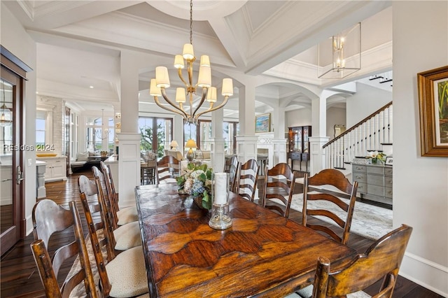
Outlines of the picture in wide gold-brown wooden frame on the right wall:
M417 73L421 156L448 157L448 66Z

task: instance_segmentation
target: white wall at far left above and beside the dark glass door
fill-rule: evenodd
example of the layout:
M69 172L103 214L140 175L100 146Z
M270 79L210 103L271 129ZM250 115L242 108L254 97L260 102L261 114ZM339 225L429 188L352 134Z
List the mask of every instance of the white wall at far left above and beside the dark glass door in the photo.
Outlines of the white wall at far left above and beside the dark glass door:
M36 43L1 2L1 45L31 69L36 69ZM27 73L25 83L25 145L36 144L36 71ZM29 121L31 119L32 121ZM28 161L31 166L28 166ZM32 230L31 212L36 203L36 152L25 152L25 220L27 234ZM22 220L22 219L20 219Z

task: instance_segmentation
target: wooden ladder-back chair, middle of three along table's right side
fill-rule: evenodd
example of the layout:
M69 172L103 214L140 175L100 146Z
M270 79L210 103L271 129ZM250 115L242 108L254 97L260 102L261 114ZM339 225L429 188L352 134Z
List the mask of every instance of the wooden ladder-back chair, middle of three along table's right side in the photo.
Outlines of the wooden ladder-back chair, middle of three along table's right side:
M274 210L285 218L288 218L291 201L295 187L295 173L286 163L276 164L272 169L265 167L265 183L263 187L262 206ZM272 201L279 200L279 204L272 204ZM278 201L277 201L278 203Z

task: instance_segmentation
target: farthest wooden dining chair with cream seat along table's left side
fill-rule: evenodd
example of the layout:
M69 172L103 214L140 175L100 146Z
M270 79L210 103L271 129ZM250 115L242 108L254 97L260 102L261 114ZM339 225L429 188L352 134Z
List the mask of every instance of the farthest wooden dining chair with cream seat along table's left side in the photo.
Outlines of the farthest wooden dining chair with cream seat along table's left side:
M102 167L101 171L99 171L96 166L92 166L93 176L99 177L101 180L103 193L106 194L106 199L111 201L110 204L113 207L112 211L115 215L114 220L116 221L113 227L116 228L116 225L126 225L130 222L136 222L139 220L136 206L128 206L124 208L119 207L118 193L116 192L115 184L113 183L111 167L109 165L106 166L106 164L101 162L100 166Z

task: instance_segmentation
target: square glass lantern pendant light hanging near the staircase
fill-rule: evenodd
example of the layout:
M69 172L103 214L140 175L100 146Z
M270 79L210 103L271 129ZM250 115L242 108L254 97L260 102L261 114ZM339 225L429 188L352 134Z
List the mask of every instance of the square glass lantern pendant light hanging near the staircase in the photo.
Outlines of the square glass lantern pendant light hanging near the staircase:
M318 44L318 78L345 78L361 68L361 24Z

